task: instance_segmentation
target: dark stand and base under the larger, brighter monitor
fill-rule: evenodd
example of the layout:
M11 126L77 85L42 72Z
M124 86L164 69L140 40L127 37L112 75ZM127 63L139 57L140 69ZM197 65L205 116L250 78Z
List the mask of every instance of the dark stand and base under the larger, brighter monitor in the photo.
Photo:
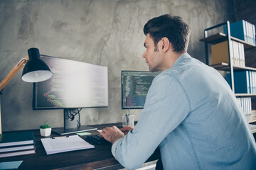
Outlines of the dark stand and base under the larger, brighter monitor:
M80 125L80 115L77 109L64 109L64 128L53 128L58 135L68 135L77 132L97 130L87 125Z

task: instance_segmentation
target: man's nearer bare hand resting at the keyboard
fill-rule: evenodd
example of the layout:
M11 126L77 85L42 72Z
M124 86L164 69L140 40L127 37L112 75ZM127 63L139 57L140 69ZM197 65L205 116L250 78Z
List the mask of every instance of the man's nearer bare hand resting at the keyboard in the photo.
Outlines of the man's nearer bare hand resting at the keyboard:
M112 126L102 129L102 132L100 132L100 136L104 137L105 140L111 142L113 145L114 142L124 137L124 133L116 126Z

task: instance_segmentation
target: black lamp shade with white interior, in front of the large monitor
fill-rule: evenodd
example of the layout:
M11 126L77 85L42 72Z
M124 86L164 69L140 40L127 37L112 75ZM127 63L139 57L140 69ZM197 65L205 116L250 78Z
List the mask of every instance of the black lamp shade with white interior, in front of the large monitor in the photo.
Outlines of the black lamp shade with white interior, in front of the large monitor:
M40 59L39 50L37 48L28 49L28 62L23 68L21 79L27 82L40 82L53 77L50 68Z

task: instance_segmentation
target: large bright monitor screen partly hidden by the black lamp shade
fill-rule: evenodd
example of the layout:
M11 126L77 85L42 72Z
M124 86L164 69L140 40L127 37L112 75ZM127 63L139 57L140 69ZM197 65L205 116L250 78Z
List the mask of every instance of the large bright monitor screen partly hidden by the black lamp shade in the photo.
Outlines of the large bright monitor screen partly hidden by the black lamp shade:
M107 67L41 55L53 77L33 84L33 109L108 106Z

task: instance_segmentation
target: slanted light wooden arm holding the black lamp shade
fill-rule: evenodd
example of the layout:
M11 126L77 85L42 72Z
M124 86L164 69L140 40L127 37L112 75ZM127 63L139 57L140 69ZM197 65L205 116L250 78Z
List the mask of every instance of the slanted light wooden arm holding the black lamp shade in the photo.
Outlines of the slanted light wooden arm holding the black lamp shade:
M18 64L16 64L16 66L13 69L11 69L11 72L9 72L9 74L7 74L6 77L4 77L4 79L0 83L0 92L2 91L2 89L4 89L4 86L6 86L6 84L8 84L9 81L26 64L26 62L28 62L28 55L26 57L24 57L23 59L21 59L21 61L19 61Z

